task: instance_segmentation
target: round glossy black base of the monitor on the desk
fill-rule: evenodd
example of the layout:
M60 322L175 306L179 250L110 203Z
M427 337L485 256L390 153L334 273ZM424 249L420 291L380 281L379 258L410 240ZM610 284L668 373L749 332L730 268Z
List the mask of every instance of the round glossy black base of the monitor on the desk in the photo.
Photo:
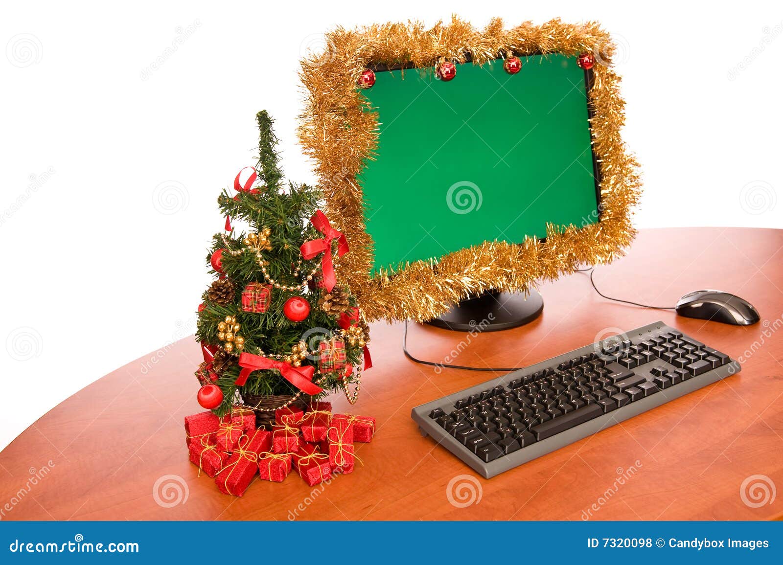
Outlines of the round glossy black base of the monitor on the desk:
M538 318L541 311L543 298L537 290L530 290L527 296L488 290L478 297L460 300L446 314L424 323L460 332L477 328L482 332L497 332L524 326Z

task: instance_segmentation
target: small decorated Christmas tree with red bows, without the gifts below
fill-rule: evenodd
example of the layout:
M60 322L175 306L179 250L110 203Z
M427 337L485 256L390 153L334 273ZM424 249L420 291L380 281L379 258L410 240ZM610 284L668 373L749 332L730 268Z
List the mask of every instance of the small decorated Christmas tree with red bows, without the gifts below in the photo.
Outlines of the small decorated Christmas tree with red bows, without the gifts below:
M226 233L207 255L218 279L199 306L196 374L204 408L222 416L241 397L269 421L276 408L337 388L355 401L369 333L355 299L336 286L332 255L348 252L345 237L317 211L316 189L283 182L272 119L257 120L258 165L246 181L236 176L236 193L218 197ZM231 229L230 218L248 232Z

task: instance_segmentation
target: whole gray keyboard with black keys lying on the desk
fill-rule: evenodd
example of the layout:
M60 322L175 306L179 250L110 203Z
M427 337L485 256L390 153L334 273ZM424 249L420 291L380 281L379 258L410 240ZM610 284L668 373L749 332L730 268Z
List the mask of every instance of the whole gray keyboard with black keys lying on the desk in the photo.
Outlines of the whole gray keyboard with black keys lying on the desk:
M417 406L411 417L489 479L739 371L727 354L653 322Z

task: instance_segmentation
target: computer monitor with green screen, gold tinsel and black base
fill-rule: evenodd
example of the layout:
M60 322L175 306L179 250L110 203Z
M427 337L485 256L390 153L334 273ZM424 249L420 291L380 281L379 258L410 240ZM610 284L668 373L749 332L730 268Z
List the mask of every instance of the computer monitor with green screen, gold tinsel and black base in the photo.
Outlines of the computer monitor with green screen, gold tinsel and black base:
M596 23L386 23L325 43L302 61L300 139L368 321L443 321L458 303L463 321L494 306L513 312L491 329L515 326L541 311L537 284L630 244L640 179Z

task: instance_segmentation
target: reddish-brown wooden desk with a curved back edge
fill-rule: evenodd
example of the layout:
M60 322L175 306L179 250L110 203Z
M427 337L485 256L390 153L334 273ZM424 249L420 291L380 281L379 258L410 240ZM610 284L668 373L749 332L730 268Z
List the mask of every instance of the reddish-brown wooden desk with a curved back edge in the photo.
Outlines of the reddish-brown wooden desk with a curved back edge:
M188 461L182 418L199 412L193 370L197 344L185 339L117 369L41 417L0 453L0 509L26 489L30 473L54 464L38 484L4 509L26 520L579 520L596 504L597 520L756 520L783 514L783 231L654 229L641 232L627 257L595 275L609 296L675 304L702 288L750 300L763 324L725 326L673 311L609 302L584 274L541 287L543 316L529 326L471 338L463 365L525 365L591 343L606 328L633 329L661 319L738 358L742 372L655 408L491 480L465 508L447 496L449 481L475 477L430 438L410 409L488 380L487 373L435 370L407 360L402 325L375 324L376 367L366 374L354 412L377 418L360 444L364 466L325 487L292 474L282 484L256 480L243 498L222 495ZM767 322L770 326L767 327ZM768 336L762 336L763 330ZM774 333L774 329L780 330ZM413 354L440 361L465 335L416 326ZM153 363L152 360L156 361ZM146 368L146 369L145 369ZM69 369L77 370L77 369ZM67 372L63 374L67 376ZM334 408L348 408L334 395ZM617 485L618 473L637 471ZM186 482L183 504L164 508L153 484ZM774 502L742 502L746 477L774 481ZM301 506L300 506L301 505Z

